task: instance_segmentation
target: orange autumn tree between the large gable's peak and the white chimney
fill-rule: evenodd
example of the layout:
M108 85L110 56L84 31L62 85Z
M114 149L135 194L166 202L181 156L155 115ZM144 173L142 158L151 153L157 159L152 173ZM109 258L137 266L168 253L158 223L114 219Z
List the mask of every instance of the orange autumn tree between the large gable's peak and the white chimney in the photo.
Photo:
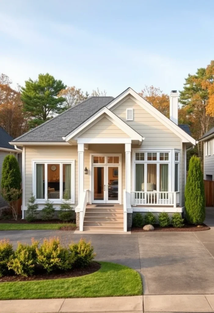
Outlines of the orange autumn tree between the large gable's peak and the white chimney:
M164 94L160 88L145 85L139 92L144 99L151 103L157 110L169 117L169 95Z

